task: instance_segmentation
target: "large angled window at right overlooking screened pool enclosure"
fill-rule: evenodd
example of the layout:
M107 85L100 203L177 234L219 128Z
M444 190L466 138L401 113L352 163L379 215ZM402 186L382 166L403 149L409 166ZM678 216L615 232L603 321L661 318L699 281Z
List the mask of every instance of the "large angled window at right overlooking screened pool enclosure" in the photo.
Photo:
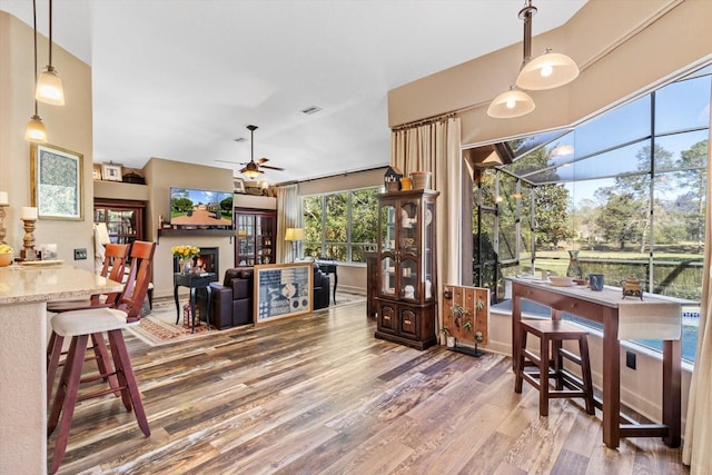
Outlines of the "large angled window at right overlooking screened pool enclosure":
M474 284L501 298L504 276L564 274L577 250L584 274L613 285L634 275L646 291L698 303L711 77L708 66L573 129L507 142L512 164L482 171L473 190L475 251L492 232L498 238L495 261L473 256ZM476 271L485 263L498 270L491 280ZM699 309L686 310L683 357L692 359Z

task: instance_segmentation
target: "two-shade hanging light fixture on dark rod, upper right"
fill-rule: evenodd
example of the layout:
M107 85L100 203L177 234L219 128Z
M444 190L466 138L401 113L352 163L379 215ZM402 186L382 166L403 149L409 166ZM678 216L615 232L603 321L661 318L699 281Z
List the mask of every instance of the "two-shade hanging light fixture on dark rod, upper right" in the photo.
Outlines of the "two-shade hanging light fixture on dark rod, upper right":
M524 20L524 59L516 78L520 89L541 91L567 85L578 77L578 66L566 55L546 52L532 59L532 17L536 13L532 0L520 10L518 17ZM534 100L524 91L511 89L497 96L487 108L487 116L495 119L522 117L536 108Z

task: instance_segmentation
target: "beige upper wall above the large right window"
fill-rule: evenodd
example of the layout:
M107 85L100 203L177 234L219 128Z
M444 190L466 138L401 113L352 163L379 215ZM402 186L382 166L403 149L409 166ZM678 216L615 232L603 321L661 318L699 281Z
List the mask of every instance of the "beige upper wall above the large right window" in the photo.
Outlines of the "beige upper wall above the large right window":
M518 43L390 90L388 123L459 111L463 146L567 126L712 59L710 18L706 0L590 0L566 24L532 40L533 51L553 48L581 68L570 85L533 91L534 112L486 115L516 79Z

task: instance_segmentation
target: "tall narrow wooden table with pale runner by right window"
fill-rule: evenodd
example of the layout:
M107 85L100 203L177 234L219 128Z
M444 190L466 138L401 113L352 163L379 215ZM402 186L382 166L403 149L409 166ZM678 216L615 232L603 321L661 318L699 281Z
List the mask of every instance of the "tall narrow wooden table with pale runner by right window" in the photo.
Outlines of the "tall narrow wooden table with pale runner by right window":
M620 288L593 291L583 286L554 287L542 281L512 278L513 366L520 360L522 299L545 305L552 318L562 313L603 324L603 443L615 448L621 437L663 438L670 447L680 446L681 432L681 306L650 294L644 300L622 299ZM663 340L662 424L620 424L621 346L620 339Z

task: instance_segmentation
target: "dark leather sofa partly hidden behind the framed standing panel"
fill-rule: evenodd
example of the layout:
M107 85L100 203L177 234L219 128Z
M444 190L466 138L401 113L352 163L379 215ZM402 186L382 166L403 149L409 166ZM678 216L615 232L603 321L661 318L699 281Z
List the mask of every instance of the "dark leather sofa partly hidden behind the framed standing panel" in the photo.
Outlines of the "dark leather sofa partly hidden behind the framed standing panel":
M210 325L218 329L248 325L253 320L253 297L255 290L255 270L253 267L235 267L225 271L222 284L211 283L212 305ZM314 265L313 308L318 310L330 304L329 275ZM200 319L207 315L207 293L198 293L197 304Z

